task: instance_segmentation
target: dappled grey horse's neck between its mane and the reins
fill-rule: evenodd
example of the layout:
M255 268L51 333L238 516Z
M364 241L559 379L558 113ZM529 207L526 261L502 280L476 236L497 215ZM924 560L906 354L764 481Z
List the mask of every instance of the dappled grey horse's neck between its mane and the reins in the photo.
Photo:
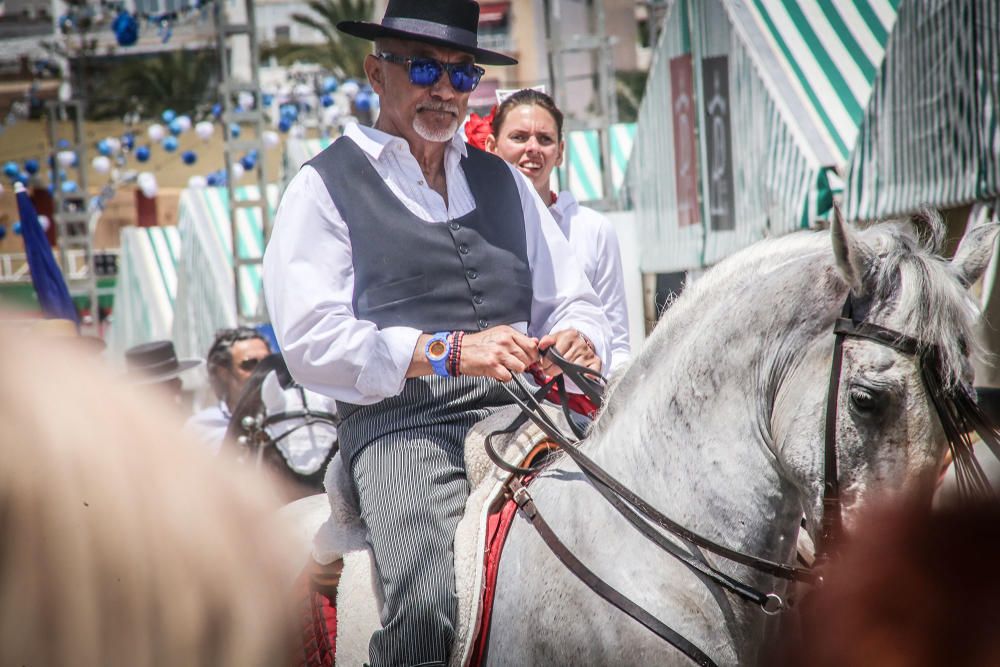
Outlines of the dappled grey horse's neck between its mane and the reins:
M787 561L802 504L772 450L771 408L801 350L829 332L838 297L816 298L822 279L805 293L802 269L800 287L788 289L748 287L745 273L729 273L715 283L742 289L703 289L667 312L609 397L588 451L682 525Z

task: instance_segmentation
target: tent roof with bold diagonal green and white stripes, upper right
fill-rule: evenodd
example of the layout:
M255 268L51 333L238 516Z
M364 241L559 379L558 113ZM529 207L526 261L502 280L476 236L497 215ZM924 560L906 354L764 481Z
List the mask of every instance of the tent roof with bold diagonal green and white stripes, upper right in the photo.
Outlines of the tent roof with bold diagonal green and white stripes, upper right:
M734 28L818 166L850 156L900 0L725 0Z

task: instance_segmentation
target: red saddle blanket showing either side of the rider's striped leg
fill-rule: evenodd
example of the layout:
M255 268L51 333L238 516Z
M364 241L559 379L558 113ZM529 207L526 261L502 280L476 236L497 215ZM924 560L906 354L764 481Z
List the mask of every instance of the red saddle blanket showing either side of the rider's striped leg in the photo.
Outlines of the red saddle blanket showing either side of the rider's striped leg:
M483 569L483 612L469 664L478 667L486 660L493 595L496 591L500 553L517 514L517 504L507 500L486 520L486 545ZM333 667L337 654L337 601L311 589L309 577L302 578L303 608L302 667Z

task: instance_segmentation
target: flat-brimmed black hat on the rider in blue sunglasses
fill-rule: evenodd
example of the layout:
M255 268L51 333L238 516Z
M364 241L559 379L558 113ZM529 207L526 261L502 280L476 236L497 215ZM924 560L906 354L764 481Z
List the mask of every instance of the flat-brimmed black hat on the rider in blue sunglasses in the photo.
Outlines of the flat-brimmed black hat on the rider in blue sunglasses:
M341 21L337 29L361 37L395 37L471 53L483 65L516 65L517 60L479 48L479 3L471 0L389 0L382 23Z

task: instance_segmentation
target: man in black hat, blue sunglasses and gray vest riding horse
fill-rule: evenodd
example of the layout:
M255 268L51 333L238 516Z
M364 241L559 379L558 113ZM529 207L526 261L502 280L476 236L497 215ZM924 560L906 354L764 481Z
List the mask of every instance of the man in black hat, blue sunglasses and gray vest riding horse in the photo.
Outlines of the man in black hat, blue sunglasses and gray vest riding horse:
M382 586L382 665L443 665L454 635L453 542L469 494L469 428L502 383L554 347L599 370L610 328L534 187L456 136L483 69L468 0L390 0L365 72L374 128L350 125L286 190L264 258L293 377L338 401Z

